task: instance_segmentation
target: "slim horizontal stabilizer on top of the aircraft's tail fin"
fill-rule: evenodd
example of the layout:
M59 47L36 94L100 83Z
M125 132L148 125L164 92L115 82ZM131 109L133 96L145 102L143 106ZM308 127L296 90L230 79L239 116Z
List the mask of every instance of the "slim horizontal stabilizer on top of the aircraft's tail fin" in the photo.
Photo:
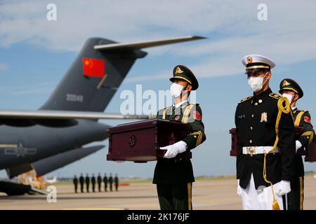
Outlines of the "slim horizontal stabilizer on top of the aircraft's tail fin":
M185 41L195 41L199 39L204 39L202 36L182 36L178 38L166 38L157 41L144 41L144 42L134 42L134 43L110 43L105 45L95 45L96 50L139 50L142 48L152 48L159 45L166 45L171 43L180 43Z

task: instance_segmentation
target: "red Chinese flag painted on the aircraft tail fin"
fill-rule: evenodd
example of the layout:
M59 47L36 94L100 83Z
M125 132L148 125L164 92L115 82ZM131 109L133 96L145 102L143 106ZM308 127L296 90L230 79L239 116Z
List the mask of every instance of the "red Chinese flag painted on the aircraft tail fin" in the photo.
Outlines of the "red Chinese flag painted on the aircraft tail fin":
M84 76L100 77L105 75L103 59L83 58Z

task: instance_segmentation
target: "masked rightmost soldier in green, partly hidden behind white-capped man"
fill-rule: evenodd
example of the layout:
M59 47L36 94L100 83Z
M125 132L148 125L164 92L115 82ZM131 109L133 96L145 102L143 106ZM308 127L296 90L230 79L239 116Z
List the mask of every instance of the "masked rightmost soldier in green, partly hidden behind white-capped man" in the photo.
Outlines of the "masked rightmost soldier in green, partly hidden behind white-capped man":
M296 155L295 155L295 176L294 181L291 181L291 192L287 195L287 205L289 210L303 210L304 197L304 165L302 156L297 153L299 148L307 148L308 144L314 138L314 130L310 123L310 113L305 110L299 110L296 107L298 99L303 97L303 90L291 78L285 78L279 83L279 93L283 97L287 97L291 104L291 109L294 115L294 125L303 127L303 134L300 134L296 139Z

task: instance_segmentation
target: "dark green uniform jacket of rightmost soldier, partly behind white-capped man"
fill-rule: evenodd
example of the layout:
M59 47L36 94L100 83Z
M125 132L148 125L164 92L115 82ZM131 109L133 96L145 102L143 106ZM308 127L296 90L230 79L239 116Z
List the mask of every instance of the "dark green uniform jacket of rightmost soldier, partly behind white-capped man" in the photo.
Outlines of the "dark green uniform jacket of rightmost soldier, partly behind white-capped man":
M312 124L310 123L310 113L308 111L300 111L298 109L293 110L294 125L297 127L303 127L303 134L298 136L297 140L301 142L302 147L307 148L308 144L312 142L314 138L314 130ZM296 154L296 176L304 176L304 165L301 155Z

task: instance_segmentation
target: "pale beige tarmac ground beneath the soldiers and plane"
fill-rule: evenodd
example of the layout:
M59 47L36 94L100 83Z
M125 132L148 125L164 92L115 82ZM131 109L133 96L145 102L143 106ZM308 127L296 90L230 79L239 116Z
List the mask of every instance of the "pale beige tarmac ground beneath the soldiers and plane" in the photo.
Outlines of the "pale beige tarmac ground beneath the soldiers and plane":
M159 209L156 186L150 181L131 182L119 191L74 193L71 184L56 184L57 202L48 202L46 195L6 196L0 193L0 209ZM236 193L235 179L197 180L192 187L193 209L242 209ZM305 176L304 209L316 210L316 178Z

